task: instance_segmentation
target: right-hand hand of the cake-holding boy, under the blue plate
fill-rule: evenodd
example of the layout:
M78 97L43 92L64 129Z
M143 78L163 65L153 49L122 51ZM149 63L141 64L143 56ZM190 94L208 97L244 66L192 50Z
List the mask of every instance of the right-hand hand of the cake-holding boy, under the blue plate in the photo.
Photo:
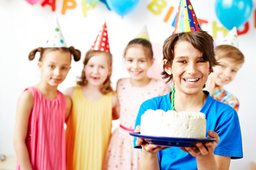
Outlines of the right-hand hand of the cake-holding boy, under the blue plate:
M192 156L198 156L198 155L207 155L210 153L214 153L214 149L217 147L218 142L220 142L219 135L211 130L208 130L209 137L216 138L215 142L206 142L204 145L202 143L196 143L195 147L193 148L181 148L182 151L187 152L191 154Z

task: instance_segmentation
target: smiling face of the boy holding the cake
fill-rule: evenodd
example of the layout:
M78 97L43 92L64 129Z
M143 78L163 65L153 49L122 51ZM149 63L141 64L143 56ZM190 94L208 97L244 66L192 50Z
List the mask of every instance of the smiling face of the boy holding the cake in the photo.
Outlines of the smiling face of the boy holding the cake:
M191 95L202 91L210 68L209 62L202 59L201 51L188 41L178 41L174 47L172 66L166 66L164 70L173 74L176 91Z

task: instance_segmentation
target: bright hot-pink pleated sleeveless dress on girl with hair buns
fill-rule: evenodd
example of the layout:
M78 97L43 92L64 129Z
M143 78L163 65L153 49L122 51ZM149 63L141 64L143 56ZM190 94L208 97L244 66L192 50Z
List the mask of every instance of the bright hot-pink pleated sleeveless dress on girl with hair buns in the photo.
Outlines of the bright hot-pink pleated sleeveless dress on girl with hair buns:
M49 100L33 86L26 90L32 91L34 97L26 137L32 169L66 170L64 129L66 98L60 91L57 98ZM16 169L21 169L18 162Z

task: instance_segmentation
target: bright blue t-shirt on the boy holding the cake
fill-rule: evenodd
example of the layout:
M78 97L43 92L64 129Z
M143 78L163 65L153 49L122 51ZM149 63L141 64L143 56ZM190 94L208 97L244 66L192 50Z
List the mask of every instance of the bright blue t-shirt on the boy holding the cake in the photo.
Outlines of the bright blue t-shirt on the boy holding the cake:
M212 98L208 91L204 91L204 93L208 95L208 98L200 112L206 116L206 133L208 130L212 130L220 136L220 142L215 148L214 154L230 156L232 159L242 158L242 138L237 112L231 106ZM141 104L135 128L140 125L141 116L149 109L171 110L170 93L161 97L151 98ZM136 140L135 138L134 148L141 148L136 145ZM183 152L178 147L160 150L158 158L161 169L197 169L195 157Z

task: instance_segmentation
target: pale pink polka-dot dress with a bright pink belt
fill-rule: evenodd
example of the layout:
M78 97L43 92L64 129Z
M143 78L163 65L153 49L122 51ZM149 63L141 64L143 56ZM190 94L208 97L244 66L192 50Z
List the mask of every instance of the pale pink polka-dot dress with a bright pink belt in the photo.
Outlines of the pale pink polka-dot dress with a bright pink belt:
M120 103L120 126L113 132L107 148L103 169L138 170L141 149L133 148L135 121L140 105L147 99L162 96L170 92L170 86L162 80L151 79L144 87L135 87L130 78L119 79L117 85Z

